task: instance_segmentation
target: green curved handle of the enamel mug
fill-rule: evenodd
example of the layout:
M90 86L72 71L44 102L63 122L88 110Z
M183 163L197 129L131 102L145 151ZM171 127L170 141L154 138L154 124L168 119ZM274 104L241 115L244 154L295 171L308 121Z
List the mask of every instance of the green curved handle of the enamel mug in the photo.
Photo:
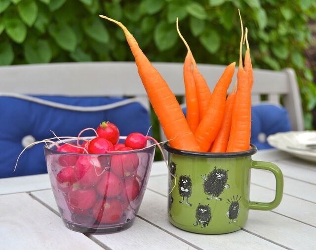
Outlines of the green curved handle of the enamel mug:
M283 175L281 170L273 163L266 161L254 160L251 163L250 168L264 169L271 171L276 177L276 196L275 200L272 202L258 202L258 201L249 201L249 209L255 210L272 210L276 208L281 200L283 195Z

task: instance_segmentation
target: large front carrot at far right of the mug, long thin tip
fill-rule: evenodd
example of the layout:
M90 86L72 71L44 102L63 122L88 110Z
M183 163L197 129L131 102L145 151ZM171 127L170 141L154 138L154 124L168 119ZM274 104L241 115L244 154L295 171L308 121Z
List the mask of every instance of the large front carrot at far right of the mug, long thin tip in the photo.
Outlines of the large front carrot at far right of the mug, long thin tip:
M227 152L238 152L249 149L251 129L251 89L248 74L242 67L243 27L240 11L241 40L239 48L239 67L237 72L237 93L232 114L231 134Z

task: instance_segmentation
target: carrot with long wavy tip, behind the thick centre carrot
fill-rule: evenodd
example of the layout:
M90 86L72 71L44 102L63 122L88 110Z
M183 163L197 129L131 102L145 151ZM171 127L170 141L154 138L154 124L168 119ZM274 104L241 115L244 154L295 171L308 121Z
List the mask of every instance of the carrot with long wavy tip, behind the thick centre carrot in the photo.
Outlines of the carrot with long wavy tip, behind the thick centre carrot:
M183 43L187 47L187 50L191 52L187 41L184 39L184 37L180 33L178 18L177 18L177 31ZM196 84L196 90L197 90L196 92L197 92L197 101L198 101L199 121L201 121L208 108L209 102L211 100L211 91L209 90L204 77L197 69L197 63L193 57L192 52L191 52L191 55L192 55L192 63L193 63L193 78L194 78L194 82Z

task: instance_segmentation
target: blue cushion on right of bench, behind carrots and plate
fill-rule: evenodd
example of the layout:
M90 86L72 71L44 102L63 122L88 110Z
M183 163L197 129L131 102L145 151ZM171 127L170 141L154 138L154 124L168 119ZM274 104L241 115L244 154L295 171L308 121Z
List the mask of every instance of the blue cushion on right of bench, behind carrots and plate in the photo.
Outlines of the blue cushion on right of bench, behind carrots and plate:
M187 108L182 108L184 114ZM277 132L291 130L287 110L279 105L258 104L251 107L251 140L259 150L271 149L266 138ZM262 138L260 138L262 136ZM264 140L262 140L264 139Z

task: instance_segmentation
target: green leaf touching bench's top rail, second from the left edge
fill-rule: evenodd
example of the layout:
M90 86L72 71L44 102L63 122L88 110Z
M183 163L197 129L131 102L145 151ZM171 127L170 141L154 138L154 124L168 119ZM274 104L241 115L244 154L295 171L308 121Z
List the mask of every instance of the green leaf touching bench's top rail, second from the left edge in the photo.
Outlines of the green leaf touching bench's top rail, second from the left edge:
M47 63L52 58L52 51L46 40L28 41L24 45L24 56L28 63Z

